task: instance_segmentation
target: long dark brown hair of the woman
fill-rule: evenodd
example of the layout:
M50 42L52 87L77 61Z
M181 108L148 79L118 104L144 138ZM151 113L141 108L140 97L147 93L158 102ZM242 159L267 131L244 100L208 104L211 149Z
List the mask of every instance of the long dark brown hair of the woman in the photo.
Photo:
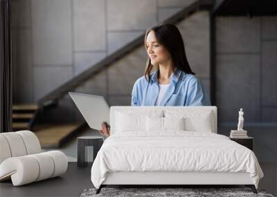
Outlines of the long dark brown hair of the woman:
M191 70L190 65L188 64L184 41L181 37L181 33L176 26L172 24L159 24L148 29L145 32L145 48L146 39L150 31L154 32L159 44L163 45L170 53L173 63L173 71L175 70L175 68L178 68L185 73L195 75L195 73L193 73L193 71ZM144 72L145 79L147 79L148 81L150 79L152 70L154 70L154 66L151 64L150 58L148 57Z

